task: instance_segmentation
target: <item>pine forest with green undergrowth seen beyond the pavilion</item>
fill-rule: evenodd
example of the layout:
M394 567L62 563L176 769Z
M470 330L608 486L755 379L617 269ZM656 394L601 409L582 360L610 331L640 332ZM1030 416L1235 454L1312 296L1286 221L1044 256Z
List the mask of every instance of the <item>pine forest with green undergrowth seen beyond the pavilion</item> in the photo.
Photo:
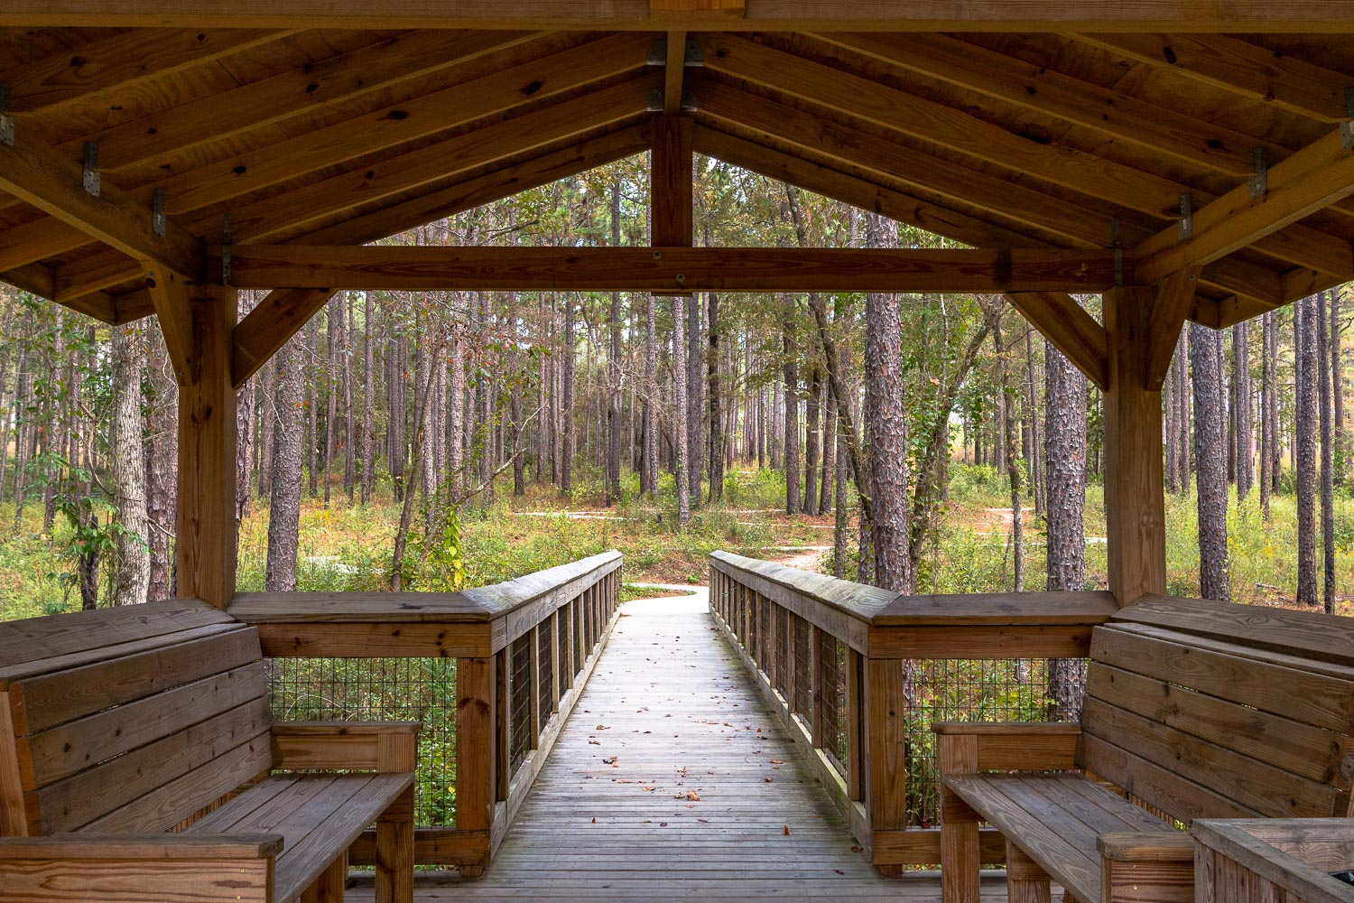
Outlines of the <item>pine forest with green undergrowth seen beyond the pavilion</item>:
M386 241L647 245L647 167ZM705 157L695 203L697 245L957 246ZM1347 612L1347 309L1182 333L1170 592ZM0 286L0 617L172 596L154 321ZM611 547L628 579L728 548L898 592L1106 585L1099 394L1001 295L345 292L241 389L238 435L242 590L459 589Z

